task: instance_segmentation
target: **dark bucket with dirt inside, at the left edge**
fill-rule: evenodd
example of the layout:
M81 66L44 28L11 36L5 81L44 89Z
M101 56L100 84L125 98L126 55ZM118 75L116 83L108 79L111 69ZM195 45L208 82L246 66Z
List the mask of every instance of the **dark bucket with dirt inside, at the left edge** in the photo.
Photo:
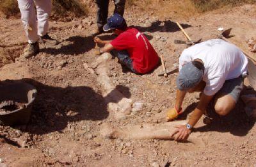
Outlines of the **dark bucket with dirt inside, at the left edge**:
M0 125L28 123L36 92L34 86L21 81L6 80L0 82L0 102L12 100L24 104L21 109L16 109L10 113L0 113Z

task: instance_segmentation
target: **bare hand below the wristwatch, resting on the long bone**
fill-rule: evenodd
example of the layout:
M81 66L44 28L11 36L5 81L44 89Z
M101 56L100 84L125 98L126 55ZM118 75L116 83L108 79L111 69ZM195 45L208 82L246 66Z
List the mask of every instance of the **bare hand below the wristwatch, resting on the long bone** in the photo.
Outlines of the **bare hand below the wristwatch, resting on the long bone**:
M191 129L188 129L186 125L178 125L175 128L176 130L171 134L171 137L174 137L176 141L184 141L191 134Z

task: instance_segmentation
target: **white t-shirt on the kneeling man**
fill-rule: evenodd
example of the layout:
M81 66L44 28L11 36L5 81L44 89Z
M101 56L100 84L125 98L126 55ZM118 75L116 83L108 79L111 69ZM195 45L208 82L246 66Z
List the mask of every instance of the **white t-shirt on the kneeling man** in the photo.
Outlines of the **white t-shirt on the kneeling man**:
M195 59L204 62L205 95L214 95L226 80L247 72L246 56L238 47L224 40L208 40L185 49L179 58L179 70L182 65Z

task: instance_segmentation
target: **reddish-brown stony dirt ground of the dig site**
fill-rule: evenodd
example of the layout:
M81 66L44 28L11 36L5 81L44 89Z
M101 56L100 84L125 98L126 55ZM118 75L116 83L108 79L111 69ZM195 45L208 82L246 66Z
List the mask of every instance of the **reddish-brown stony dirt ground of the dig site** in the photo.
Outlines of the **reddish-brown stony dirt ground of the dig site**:
M255 7L244 5L178 21L195 40L215 38L220 26L232 28L231 40L247 49L246 40L256 36ZM160 20L149 13L141 14L135 7L126 11L125 18L148 36L164 56L166 67L175 69L186 46L173 40L184 40L184 36L176 20ZM38 90L28 125L0 126L0 166L256 165L255 119L246 116L241 100L230 115L218 117L212 113L211 125L200 120L202 127L195 129L195 143L100 136L105 123L122 127L164 118L165 109L175 102L177 71L168 78L159 77L162 68L158 67L140 76L122 69L115 59L100 64L102 60L93 51L94 17L52 21L49 34L60 44L41 44L40 54L29 60L19 58L26 45L20 19L0 19L0 80L23 79ZM100 36L111 38L111 34ZM186 97L179 120L187 119L197 97L198 93ZM122 111L126 103L143 105L129 113Z

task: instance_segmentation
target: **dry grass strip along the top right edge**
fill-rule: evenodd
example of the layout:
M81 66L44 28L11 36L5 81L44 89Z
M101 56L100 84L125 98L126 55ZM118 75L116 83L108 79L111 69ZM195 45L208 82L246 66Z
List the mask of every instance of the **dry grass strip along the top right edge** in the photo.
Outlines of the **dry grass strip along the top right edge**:
M136 5L145 12L153 10L154 15L159 17L185 19L196 17L200 13L241 4L256 4L256 0L127 0L127 8Z

